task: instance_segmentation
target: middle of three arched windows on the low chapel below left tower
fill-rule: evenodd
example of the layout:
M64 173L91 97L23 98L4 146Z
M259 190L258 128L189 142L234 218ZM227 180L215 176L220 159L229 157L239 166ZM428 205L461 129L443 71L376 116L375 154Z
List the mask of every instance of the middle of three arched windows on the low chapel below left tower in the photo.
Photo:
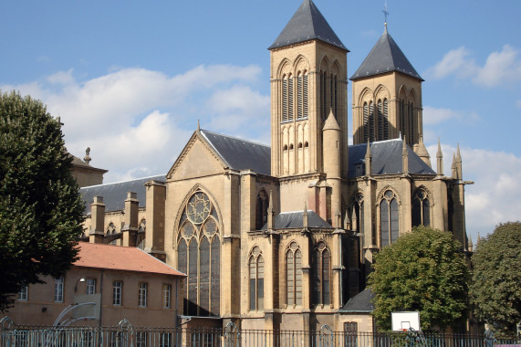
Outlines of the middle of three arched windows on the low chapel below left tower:
M286 251L286 302L287 306L302 305L302 252L297 242Z

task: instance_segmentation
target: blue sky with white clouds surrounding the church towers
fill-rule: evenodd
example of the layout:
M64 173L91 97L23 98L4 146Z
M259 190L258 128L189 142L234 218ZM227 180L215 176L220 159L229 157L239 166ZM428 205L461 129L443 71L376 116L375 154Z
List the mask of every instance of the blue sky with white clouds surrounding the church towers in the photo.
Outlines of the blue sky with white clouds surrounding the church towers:
M383 31L384 0L316 0L349 77ZM3 1L0 89L60 116L69 152L105 182L168 171L202 127L269 142L269 47L300 0ZM521 211L521 1L388 1L389 32L425 79L424 141L445 174L459 142L475 240ZM351 102L349 84L349 103ZM349 110L349 127L352 121ZM435 162L435 160L432 160Z

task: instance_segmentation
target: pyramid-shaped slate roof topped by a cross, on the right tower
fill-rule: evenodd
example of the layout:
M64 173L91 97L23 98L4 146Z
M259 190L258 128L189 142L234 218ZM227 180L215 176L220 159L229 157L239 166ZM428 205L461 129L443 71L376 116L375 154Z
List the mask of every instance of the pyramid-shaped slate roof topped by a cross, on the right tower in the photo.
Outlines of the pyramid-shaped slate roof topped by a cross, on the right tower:
M409 59L405 57L400 47L394 42L386 27L376 45L370 50L370 54L350 79L362 79L391 71L399 71L423 80L418 72L412 68Z

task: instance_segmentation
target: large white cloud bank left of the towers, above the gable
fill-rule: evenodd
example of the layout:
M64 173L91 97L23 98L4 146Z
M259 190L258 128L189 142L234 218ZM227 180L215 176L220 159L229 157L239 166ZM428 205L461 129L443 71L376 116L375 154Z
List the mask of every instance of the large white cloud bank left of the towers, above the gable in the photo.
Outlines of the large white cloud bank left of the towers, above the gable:
M65 124L68 151L83 157L90 147L91 164L109 170L109 183L165 174L198 119L216 131L266 138L269 96L249 86L260 72L256 66L199 66L171 77L122 68L78 81L70 69L0 89L18 89L46 103Z

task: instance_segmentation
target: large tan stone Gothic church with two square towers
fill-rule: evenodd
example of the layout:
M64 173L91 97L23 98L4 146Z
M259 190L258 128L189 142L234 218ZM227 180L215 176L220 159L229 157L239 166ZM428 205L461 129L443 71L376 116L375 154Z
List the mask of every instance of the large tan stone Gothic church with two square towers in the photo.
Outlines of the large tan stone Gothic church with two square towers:
M381 247L420 225L468 247L459 149L449 175L440 145L432 167L423 79L387 26L350 77L352 145L349 50L317 6L304 0L268 49L271 146L198 126L168 173L81 188L84 240L186 274L185 326L371 331L349 302L370 305Z

